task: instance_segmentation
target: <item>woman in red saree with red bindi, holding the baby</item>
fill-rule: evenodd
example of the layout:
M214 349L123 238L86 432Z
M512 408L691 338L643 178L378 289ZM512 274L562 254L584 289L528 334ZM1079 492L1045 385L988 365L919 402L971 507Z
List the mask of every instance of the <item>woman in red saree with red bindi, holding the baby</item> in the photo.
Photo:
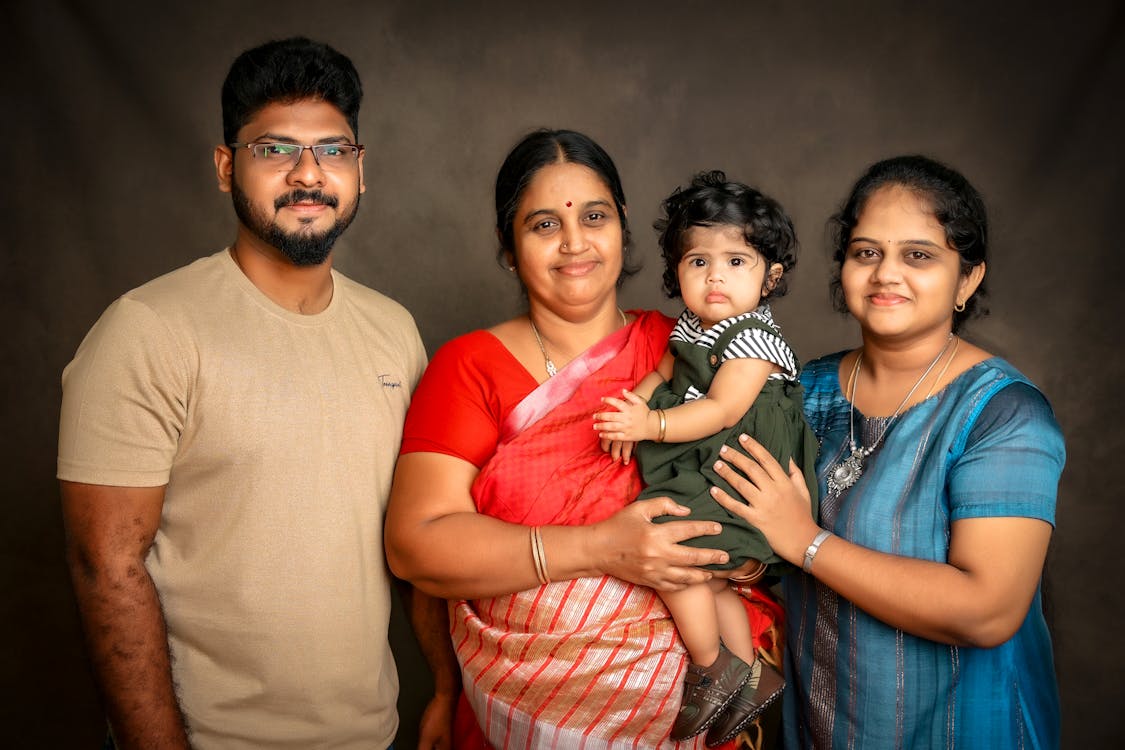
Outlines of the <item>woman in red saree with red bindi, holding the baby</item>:
M649 372L672 320L618 308L624 196L582 134L541 130L496 181L501 256L528 315L453 340L414 394L386 523L393 570L452 599L464 678L458 747L674 743L686 653L654 588L706 580L726 557L678 545L710 522L634 503L636 464L598 444L601 397ZM738 571L731 571L737 575ZM755 591L756 633L773 603Z

